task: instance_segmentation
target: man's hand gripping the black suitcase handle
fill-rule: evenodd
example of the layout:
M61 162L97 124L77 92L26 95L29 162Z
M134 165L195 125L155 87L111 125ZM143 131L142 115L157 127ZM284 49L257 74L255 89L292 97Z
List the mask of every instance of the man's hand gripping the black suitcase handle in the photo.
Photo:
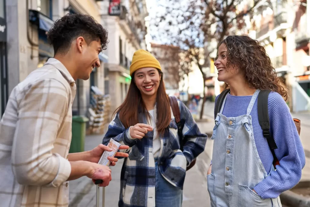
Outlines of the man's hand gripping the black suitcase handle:
M92 170L87 174L87 177L91 178L94 183L95 180L102 180L103 182L99 186L106 187L112 180L111 169L108 166L92 163Z

